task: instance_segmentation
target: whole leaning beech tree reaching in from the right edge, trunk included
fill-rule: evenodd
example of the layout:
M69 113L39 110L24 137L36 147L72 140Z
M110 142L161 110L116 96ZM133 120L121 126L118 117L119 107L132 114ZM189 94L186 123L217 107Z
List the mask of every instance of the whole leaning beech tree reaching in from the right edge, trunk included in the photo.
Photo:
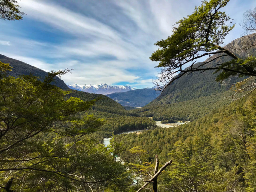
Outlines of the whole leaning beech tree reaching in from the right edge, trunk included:
M238 92L255 89L256 58L252 56L240 58L235 53L236 50L228 50L220 46L228 33L235 27L232 25L232 19L225 12L221 12L228 2L229 0L203 1L202 5L196 7L191 15L176 22L171 36L156 43L159 49L152 53L150 59L159 61L156 66L161 68L160 77L156 82L159 90L163 91L181 76L206 70L219 72L216 80L220 82L230 76L253 77L250 78L252 83L238 88ZM255 10L245 14L244 28L250 32L255 32L254 13ZM249 39L251 37L248 36ZM254 45L251 44L251 46ZM198 59L205 56L210 58L195 65ZM222 57L229 57L230 61L211 67L207 65ZM244 82L241 83L244 84Z

